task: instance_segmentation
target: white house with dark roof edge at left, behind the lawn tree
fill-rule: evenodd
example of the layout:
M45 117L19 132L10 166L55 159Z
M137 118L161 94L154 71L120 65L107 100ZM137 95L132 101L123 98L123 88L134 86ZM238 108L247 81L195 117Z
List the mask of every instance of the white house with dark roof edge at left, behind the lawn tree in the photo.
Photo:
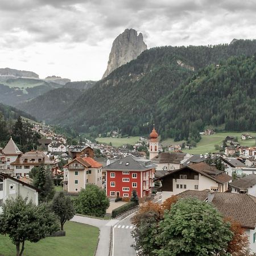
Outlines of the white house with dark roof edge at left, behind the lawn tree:
M28 201L31 200L32 203L38 205L38 192L39 189L32 185L0 172L0 213L6 199L15 199L18 195L23 199L27 197Z

